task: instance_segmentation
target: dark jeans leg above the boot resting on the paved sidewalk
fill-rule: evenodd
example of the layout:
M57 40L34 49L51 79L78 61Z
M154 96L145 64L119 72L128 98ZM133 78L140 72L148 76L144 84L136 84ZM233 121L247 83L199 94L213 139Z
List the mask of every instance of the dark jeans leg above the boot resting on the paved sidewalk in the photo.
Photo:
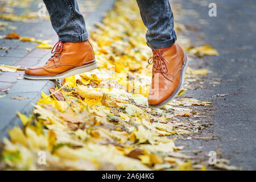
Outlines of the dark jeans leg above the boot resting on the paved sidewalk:
M85 21L79 12L76 0L43 0L48 10L52 27L65 42L82 42L88 40Z

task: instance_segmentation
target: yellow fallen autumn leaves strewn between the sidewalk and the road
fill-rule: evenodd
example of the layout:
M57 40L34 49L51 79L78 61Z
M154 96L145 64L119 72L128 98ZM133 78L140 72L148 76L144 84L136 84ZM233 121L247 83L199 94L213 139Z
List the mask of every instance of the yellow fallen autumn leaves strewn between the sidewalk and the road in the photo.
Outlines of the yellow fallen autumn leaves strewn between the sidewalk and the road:
M145 32L135 1L117 1L91 30L98 69L58 80L56 88L49 89L51 94L42 92L31 114L17 113L23 128L13 127L8 131L10 139L3 139L4 168L207 169L200 156L184 154L184 146L176 140L199 133L200 122L193 122L194 107L211 103L185 97L189 90L185 84L170 104L148 107L151 50ZM193 53L201 55L208 48ZM213 53L210 48L205 55ZM197 81L208 73L189 68L186 79ZM40 165L42 151L46 165Z

